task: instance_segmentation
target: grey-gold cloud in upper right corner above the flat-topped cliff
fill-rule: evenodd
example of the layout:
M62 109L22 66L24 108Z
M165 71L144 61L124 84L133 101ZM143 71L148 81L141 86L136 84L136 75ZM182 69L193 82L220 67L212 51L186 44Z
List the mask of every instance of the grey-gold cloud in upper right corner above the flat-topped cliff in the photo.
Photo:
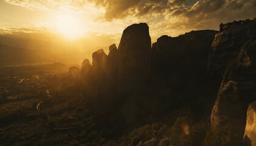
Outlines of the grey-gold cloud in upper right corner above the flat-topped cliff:
M178 16L182 19L187 18L185 27L218 28L219 23L228 21L254 18L256 14L256 1L241 0L204 0L198 1L191 7L170 12L166 17Z

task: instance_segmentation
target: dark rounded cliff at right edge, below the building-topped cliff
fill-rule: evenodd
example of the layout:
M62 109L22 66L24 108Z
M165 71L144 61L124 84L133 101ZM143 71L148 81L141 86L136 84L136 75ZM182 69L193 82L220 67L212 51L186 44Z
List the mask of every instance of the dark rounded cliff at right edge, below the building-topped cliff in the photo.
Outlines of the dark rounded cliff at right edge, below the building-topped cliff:
M243 135L246 111L256 100L256 39L245 43L240 54L227 67L212 110L212 127L230 123Z

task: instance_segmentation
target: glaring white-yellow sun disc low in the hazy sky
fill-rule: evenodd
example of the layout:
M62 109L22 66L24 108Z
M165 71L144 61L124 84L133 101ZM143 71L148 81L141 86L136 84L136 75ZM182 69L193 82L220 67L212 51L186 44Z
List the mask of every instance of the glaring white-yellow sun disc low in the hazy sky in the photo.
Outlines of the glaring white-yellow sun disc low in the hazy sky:
M79 19L69 15L56 16L55 29L68 38L77 38L84 32Z

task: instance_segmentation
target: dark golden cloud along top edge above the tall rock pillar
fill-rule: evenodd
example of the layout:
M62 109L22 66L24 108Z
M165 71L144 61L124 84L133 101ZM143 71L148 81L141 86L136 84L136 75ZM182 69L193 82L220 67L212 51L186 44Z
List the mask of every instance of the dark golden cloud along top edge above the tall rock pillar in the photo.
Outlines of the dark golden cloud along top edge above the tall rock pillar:
M126 16L143 16L163 13L165 10L184 7L186 0L89 0L97 6L104 7L105 19L124 18Z

